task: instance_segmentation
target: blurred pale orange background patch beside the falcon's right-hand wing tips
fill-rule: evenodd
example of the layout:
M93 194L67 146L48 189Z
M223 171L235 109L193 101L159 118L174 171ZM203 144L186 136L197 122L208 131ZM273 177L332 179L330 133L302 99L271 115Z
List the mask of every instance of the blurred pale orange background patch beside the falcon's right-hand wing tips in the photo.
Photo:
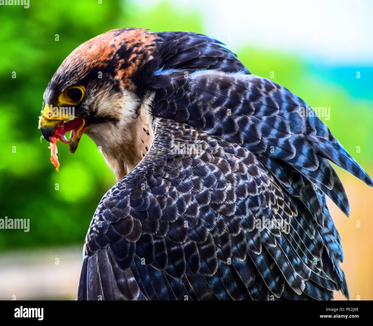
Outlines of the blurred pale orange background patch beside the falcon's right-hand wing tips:
M329 198L327 204L341 235L344 253L341 266L350 300L373 300L373 189L338 167L336 171L350 201L350 217L347 218ZM367 173L373 175L372 170ZM335 292L334 299L346 300L340 292Z

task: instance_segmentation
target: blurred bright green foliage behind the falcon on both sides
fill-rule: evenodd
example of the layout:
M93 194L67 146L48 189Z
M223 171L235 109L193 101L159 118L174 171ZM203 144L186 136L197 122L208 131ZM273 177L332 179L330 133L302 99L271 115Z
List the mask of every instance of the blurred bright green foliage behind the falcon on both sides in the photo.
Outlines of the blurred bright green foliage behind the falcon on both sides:
M48 143L40 140L37 128L49 79L74 48L98 34L123 27L203 33L201 15L162 2L144 13L125 1L32 1L28 9L1 7L0 20L0 218L30 219L29 232L0 230L0 248L83 243L93 213L115 178L85 135L74 155L57 143L60 171L54 170ZM231 50L251 73L270 77L274 72L275 82L309 105L330 106L326 123L369 171L372 98L352 97L348 89L292 55L245 44ZM359 81L351 75L351 83Z

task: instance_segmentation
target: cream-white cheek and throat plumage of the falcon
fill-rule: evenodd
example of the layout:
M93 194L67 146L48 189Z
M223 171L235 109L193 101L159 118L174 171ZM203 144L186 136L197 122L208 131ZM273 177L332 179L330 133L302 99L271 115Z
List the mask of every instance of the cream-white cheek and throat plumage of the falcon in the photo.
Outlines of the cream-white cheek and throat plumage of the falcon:
M115 97L101 97L97 115L117 121L94 124L86 133L101 147L106 164L117 180L132 170L150 148L154 134L153 98L154 94L140 103L137 96L128 91Z

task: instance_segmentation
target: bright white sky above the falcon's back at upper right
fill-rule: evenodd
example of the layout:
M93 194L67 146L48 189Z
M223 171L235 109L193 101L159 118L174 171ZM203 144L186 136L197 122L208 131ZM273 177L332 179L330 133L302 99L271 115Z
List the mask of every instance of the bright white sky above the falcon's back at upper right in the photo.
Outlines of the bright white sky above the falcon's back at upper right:
M159 2L132 1L143 10ZM373 63L373 0L166 2L182 10L198 10L206 34L233 51L247 43L336 64Z

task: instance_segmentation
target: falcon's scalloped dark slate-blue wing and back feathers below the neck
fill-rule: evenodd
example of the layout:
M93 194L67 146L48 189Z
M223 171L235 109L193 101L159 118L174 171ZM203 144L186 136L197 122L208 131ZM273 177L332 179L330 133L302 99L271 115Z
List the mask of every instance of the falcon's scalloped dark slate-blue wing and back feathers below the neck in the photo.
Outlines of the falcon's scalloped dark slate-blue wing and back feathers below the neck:
M212 60L191 44L178 54L173 40L164 53L173 67L223 62L221 49ZM348 297L325 194L350 207L329 161L372 179L286 88L247 71L188 72L165 67L149 79L153 143L98 206L78 300Z

